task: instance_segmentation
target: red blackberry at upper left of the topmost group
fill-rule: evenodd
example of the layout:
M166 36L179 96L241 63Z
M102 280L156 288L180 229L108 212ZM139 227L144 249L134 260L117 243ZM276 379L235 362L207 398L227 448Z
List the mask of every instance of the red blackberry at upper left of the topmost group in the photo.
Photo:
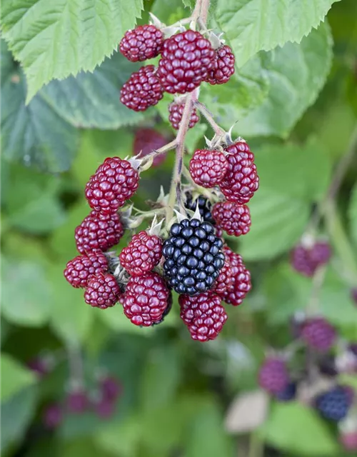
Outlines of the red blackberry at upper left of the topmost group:
M119 50L131 62L144 61L159 56L164 43L164 34L153 25L137 26L126 31Z

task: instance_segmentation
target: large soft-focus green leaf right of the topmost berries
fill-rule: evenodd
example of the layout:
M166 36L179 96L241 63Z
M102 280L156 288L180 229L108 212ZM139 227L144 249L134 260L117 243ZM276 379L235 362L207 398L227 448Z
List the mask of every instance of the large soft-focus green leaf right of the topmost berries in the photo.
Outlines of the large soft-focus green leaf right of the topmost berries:
M216 120L225 129L238 121L243 136L285 138L322 89L331 57L331 32L321 24L301 44L287 43L254 56L237 71L242 84L233 79L223 89L203 89L203 101L208 109L214 106Z

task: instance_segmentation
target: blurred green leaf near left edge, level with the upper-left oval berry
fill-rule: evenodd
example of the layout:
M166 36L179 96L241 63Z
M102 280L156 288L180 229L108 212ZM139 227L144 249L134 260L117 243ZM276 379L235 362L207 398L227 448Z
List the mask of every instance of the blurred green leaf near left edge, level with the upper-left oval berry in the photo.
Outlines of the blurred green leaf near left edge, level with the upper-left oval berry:
M6 209L11 225L29 233L46 233L64 222L65 214L56 197L58 178L22 166L12 166L10 178L11 183L21 182L8 192Z

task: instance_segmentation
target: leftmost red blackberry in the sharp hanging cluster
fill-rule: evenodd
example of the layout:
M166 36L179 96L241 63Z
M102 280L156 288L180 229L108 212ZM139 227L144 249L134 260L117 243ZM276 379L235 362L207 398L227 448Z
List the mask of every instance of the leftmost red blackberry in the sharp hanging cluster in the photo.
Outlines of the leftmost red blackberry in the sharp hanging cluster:
M107 269L108 261L103 253L89 252L70 260L64 269L64 277L73 287L86 287L91 276L105 273Z

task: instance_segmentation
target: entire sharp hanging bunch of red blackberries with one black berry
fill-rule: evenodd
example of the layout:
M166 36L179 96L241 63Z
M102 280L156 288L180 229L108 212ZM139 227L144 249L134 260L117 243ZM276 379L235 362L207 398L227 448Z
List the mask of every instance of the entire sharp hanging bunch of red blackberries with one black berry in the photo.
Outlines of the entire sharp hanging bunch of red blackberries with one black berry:
M121 53L133 62L160 56L157 68L142 66L121 89L121 102L134 111L156 105L164 92L186 94L205 81L225 84L234 73L231 49L221 42L213 48L212 43L218 41L210 31L204 31L205 36L191 29L171 36L168 33L166 27L138 26L127 31L119 44ZM196 96L198 91L192 97ZM169 106L174 129L180 127L185 106L181 96ZM199 120L197 111L192 106L188 114L186 121L192 128ZM197 186L216 186L212 209L210 199L200 196L196 202L199 216L188 215L195 201L194 189L186 185L183 195L190 196L191 203L186 199L185 209L178 205L181 214L172 214L174 205L166 196L153 204L158 210L156 216L164 215L165 228L153 221L151 229L131 236L119 256L106 253L123 236L123 221L126 229L133 229L148 217L139 211L141 214L131 219L126 211L124 219L118 211L138 189L136 164L145 169L151 164L145 156L158 149L165 152L165 143L158 132L140 129L134 141L135 159L108 158L91 176L85 195L93 211L76 228L81 255L67 263L64 276L72 286L85 289L85 301L91 306L105 309L120 302L125 316L136 326L161 323L171 309L173 289L179 295L181 318L191 337L208 341L216 338L226 322L221 302L238 306L251 289L251 276L241 256L224 245L221 235L226 231L240 236L249 230L246 203L258 189L254 156L242 140L196 151L189 167L191 176ZM158 154L154 164L163 157ZM181 169L177 170L180 178Z

